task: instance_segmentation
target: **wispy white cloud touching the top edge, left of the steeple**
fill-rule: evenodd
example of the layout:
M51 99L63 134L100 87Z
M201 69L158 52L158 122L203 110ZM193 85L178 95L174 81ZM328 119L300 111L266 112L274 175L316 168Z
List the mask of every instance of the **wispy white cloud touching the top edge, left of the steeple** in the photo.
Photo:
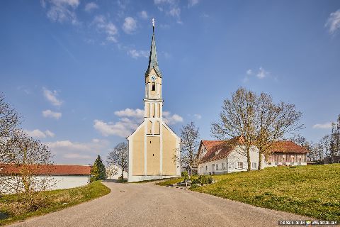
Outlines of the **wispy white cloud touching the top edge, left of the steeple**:
M46 2L42 1L42 7L47 9ZM79 24L75 13L75 9L79 6L79 0L50 0L48 3L50 8L47 10L47 18L50 18L51 21Z

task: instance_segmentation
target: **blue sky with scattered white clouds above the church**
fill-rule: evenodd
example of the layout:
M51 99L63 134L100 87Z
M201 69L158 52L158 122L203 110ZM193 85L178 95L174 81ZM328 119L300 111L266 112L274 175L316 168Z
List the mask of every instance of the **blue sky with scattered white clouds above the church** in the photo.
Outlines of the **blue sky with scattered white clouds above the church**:
M142 121L156 20L166 122L211 139L238 87L296 104L317 141L340 114L340 1L2 1L0 91L56 163L92 163Z

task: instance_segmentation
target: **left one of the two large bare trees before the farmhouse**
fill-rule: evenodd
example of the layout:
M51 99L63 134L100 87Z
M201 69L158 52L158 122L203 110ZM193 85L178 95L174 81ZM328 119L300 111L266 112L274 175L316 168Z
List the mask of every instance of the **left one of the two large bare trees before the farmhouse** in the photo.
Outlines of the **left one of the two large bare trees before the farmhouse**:
M212 123L212 136L240 145L241 155L246 156L247 171L251 170L250 150L256 138L256 94L244 88L237 89L232 99L225 99L220 113L220 121ZM241 137L239 140L230 140ZM233 145L237 145L233 144Z

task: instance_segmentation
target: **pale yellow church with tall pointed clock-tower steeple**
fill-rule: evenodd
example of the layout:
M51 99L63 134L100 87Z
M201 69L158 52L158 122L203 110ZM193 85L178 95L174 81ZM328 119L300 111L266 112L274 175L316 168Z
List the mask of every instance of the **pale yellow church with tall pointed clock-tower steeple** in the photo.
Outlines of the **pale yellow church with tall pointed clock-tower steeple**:
M163 121L162 73L158 67L154 20L149 65L145 72L144 121L128 136L128 182L179 177L179 136Z

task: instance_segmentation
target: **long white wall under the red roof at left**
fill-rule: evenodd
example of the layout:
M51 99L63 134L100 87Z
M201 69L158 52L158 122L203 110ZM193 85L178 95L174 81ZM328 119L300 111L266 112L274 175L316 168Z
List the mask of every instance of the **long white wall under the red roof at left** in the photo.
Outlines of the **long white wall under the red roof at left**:
M35 182L42 182L47 179L48 184L47 190L55 190L55 189L69 189L72 187L80 187L86 184L89 184L90 179L89 176L35 176L33 180ZM11 179L10 184L16 185L19 182L19 188L22 188L22 182L20 177L14 177ZM39 185L39 183L38 183ZM41 188L36 188L36 190L41 190ZM13 194L16 191L13 187L5 187L4 184L0 184L0 193L1 194Z

